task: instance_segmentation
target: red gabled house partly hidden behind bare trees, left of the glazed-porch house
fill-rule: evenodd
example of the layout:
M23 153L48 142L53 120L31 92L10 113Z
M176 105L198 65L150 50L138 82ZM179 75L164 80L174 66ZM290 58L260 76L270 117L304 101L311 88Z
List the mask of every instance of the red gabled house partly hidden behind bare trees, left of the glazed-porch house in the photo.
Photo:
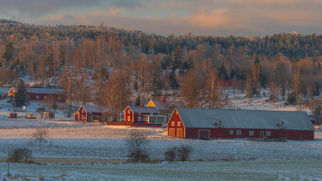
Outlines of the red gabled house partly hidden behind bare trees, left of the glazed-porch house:
M104 106L96 105L81 105L81 107L74 113L74 121L93 122L93 120L104 121L103 114L107 112ZM112 117L112 121L115 118Z

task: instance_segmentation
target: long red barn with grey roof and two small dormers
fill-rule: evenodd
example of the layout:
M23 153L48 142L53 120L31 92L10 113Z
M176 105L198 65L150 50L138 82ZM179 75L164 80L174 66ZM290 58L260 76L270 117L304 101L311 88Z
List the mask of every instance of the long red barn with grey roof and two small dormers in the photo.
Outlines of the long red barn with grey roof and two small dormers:
M314 140L306 112L177 108L168 136L181 138L287 138Z

